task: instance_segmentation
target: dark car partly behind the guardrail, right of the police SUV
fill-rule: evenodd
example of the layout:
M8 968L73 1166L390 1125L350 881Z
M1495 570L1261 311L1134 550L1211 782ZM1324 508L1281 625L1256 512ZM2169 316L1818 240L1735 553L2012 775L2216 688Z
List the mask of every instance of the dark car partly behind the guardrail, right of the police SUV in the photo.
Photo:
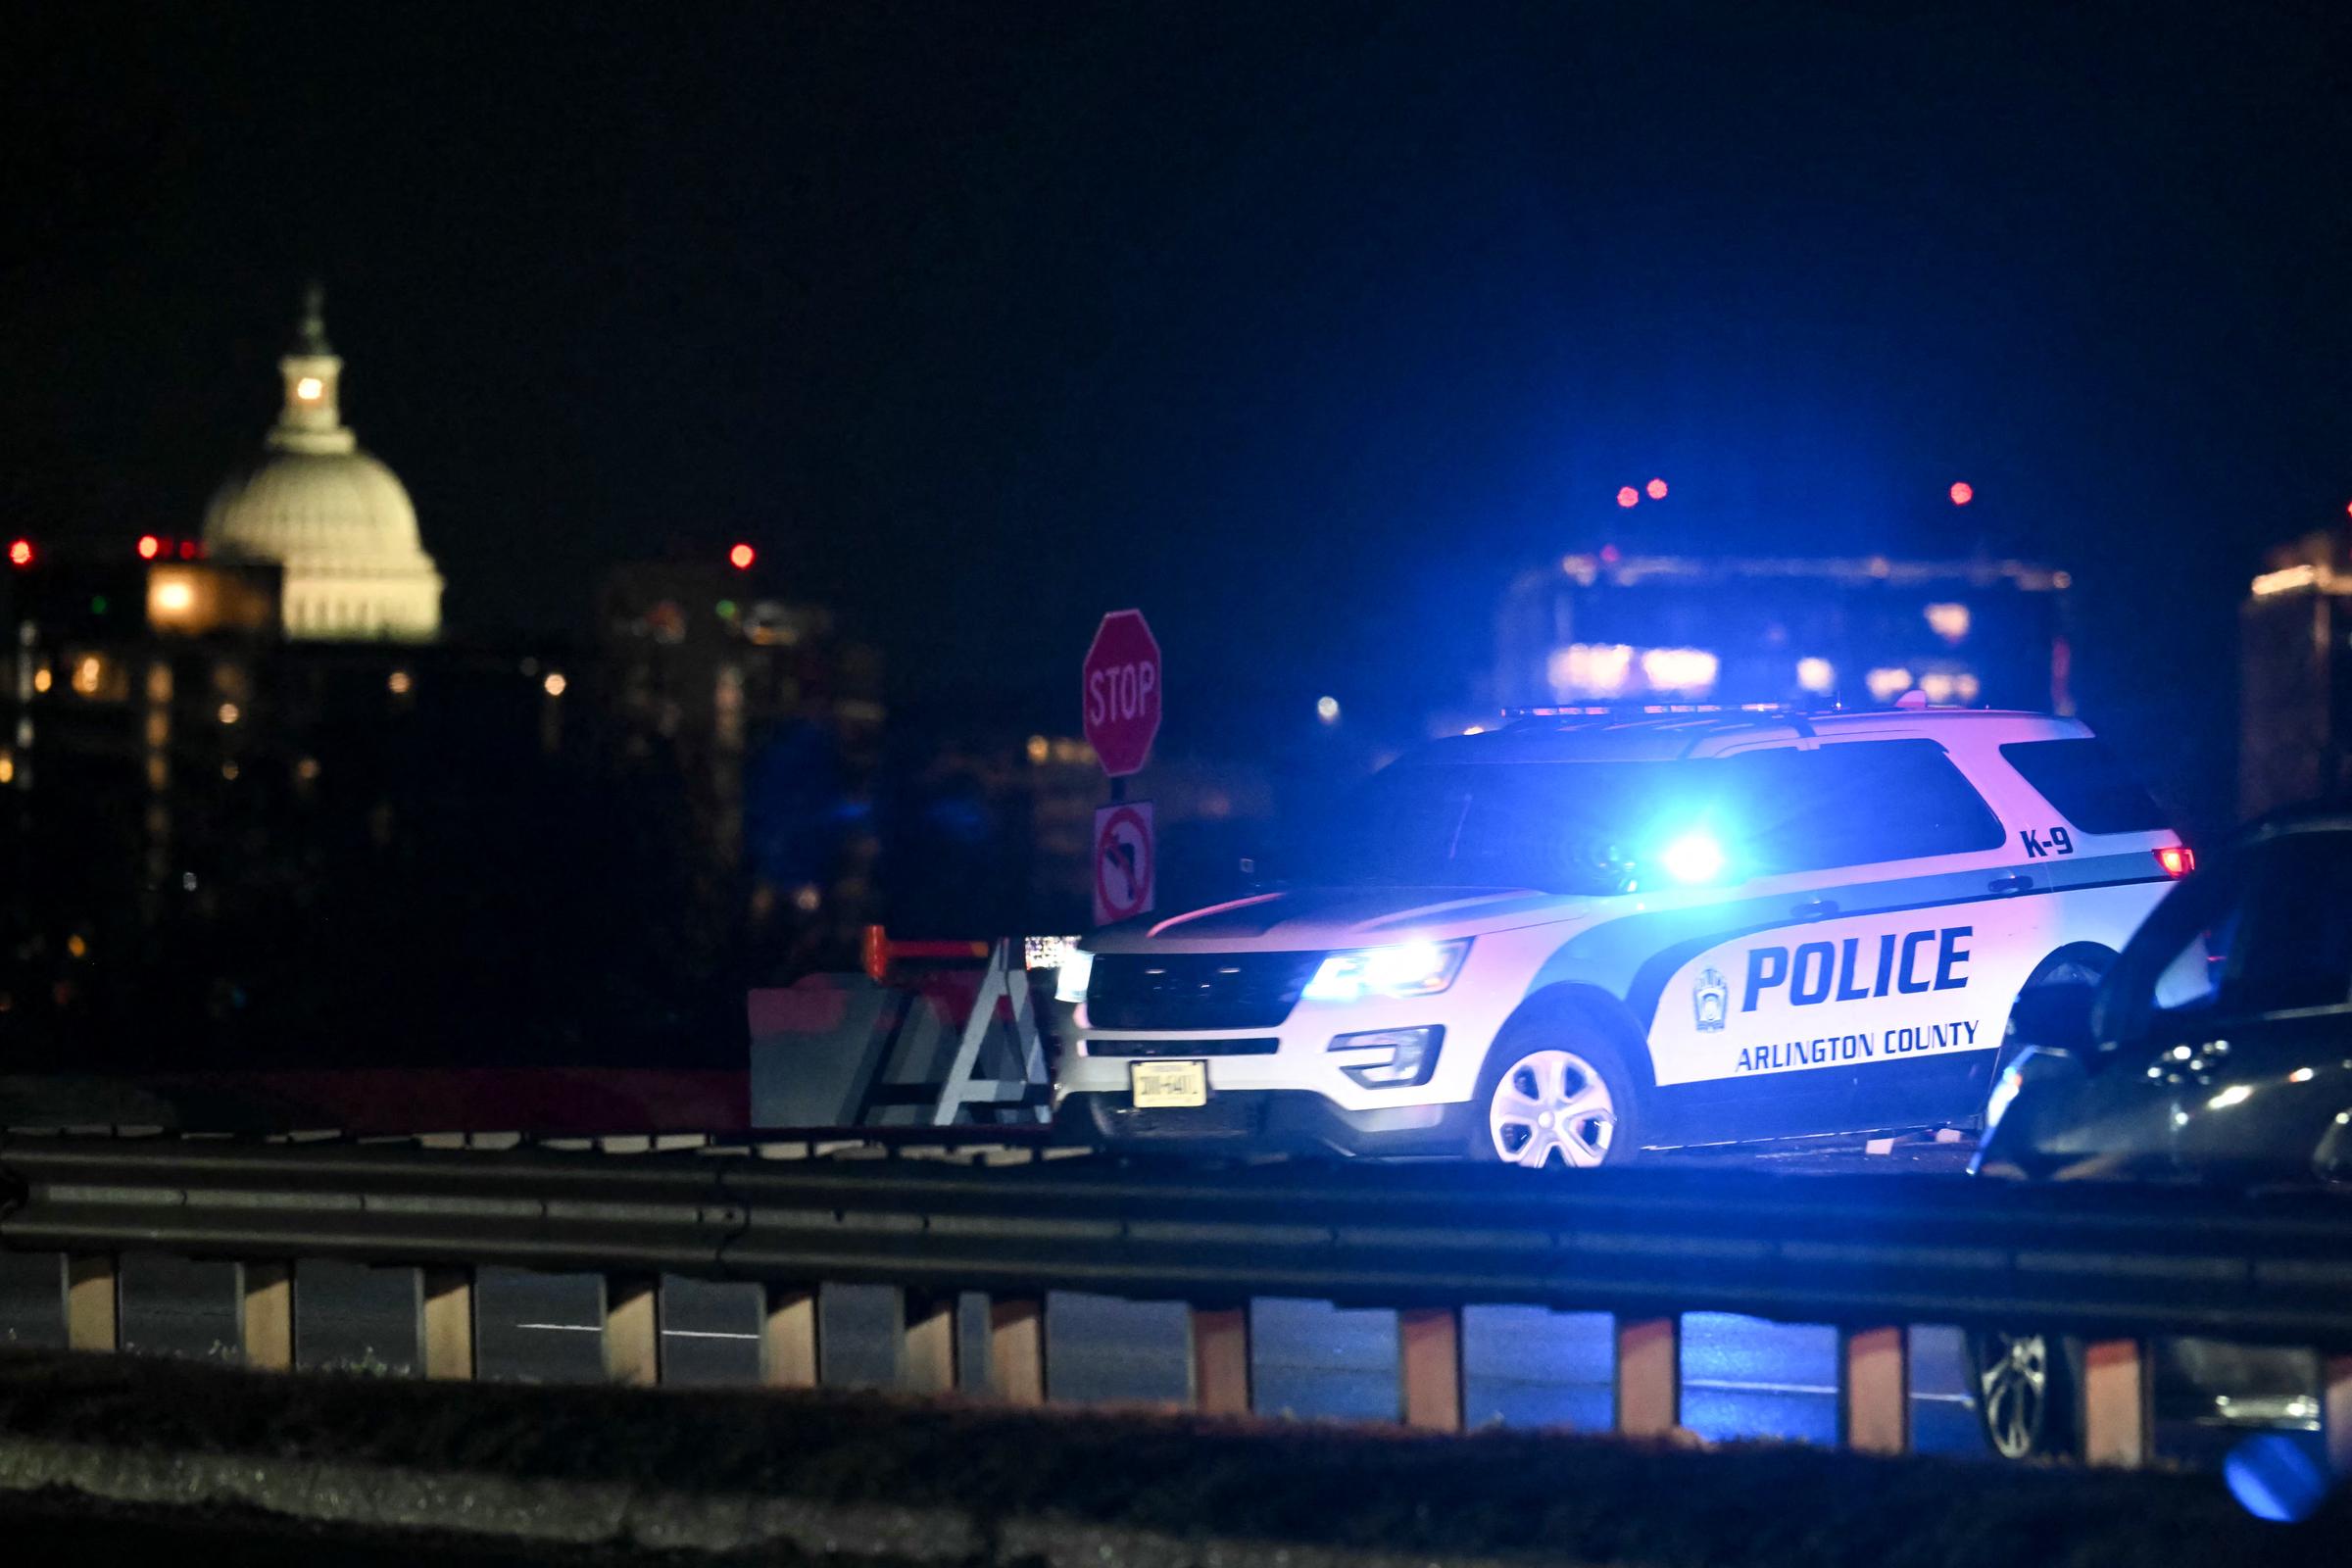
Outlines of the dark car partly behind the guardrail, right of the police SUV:
M1973 1171L2352 1190L2347 889L2352 806L2251 827L2157 905L2105 980L2020 1001ZM1987 1333L1971 1361L1999 1453L2074 1446L2079 1347ZM2157 1415L2312 1427L2319 1366L2169 1340Z

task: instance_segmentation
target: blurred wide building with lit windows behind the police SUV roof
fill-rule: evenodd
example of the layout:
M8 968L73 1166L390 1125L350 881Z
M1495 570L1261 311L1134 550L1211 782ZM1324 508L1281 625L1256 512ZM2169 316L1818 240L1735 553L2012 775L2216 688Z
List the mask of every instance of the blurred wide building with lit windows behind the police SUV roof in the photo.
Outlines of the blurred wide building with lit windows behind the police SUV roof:
M1496 616L1496 708L1919 691L2072 712L2065 571L2025 562L1566 555Z

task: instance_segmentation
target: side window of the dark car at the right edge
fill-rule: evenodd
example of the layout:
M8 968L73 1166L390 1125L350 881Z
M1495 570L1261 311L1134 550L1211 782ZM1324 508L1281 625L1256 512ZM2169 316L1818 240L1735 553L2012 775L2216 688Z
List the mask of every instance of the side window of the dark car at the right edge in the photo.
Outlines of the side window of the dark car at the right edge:
M2263 844L2225 1001L2284 1013L2352 1001L2352 832L2293 832Z

